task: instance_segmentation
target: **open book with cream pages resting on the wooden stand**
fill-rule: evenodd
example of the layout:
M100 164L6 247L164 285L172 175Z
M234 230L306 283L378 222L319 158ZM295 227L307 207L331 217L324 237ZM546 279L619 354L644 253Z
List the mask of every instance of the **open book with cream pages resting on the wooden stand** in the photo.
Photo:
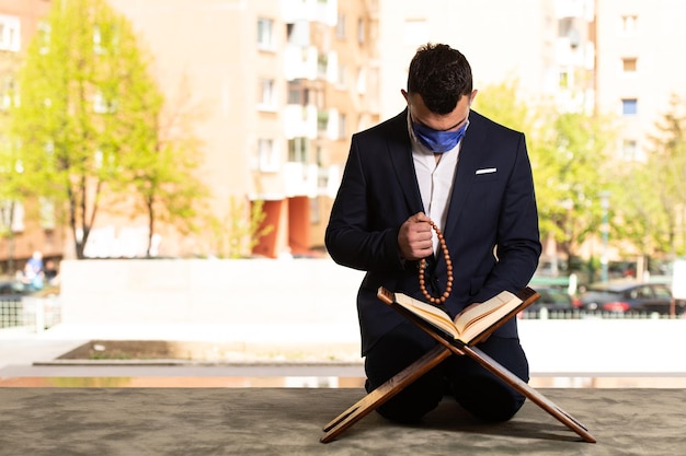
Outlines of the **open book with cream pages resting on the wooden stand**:
M400 305L453 339L470 344L478 342L481 336L498 329L507 319L536 301L539 294L529 288L517 294L503 291L483 303L472 304L465 308L455 317L455 320L451 320L450 316L438 307L403 293L390 292L384 287L379 287L377 296L386 304Z

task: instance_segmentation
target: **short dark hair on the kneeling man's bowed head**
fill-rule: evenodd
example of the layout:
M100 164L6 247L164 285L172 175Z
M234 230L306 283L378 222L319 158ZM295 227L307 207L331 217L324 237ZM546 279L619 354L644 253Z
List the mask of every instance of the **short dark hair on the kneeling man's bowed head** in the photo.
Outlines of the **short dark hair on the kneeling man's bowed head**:
M471 95L471 67L448 45L426 44L410 62L408 93L419 94L432 113L448 114L462 95Z

